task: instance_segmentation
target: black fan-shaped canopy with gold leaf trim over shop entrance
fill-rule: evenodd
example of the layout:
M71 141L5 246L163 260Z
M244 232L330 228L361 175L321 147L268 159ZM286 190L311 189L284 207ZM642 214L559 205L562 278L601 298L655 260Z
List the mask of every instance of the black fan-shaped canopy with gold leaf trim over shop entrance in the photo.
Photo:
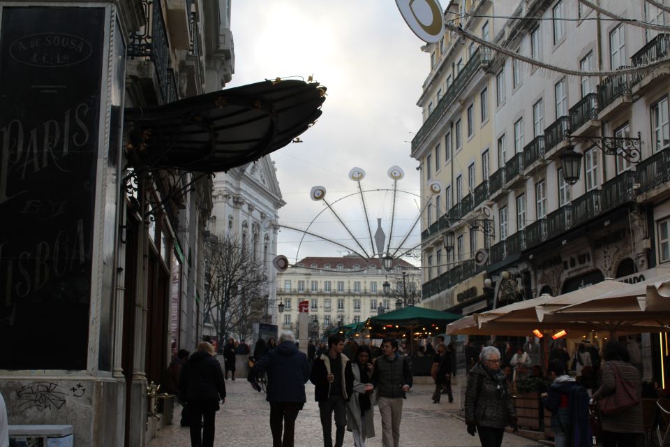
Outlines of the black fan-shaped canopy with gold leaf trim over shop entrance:
M325 87L276 80L125 112L132 168L211 173L288 145L320 117Z

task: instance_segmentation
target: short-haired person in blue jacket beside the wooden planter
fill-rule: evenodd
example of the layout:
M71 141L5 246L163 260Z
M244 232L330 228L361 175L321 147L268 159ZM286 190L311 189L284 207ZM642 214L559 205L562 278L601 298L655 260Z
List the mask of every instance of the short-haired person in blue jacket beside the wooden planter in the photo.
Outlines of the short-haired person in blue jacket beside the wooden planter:
M570 417L569 396L572 388L577 386L574 377L565 374L563 361L557 358L549 362L549 372L553 383L546 393L542 393L544 408L551 411L551 430L555 447L569 447L572 418ZM573 446L577 447L577 446Z

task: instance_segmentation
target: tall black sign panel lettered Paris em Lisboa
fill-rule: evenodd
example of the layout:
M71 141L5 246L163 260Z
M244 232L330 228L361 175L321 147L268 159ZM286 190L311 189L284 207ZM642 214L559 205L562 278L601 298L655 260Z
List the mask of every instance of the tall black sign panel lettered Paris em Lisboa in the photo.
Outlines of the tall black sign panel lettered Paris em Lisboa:
M0 369L86 369L105 10L3 8Z

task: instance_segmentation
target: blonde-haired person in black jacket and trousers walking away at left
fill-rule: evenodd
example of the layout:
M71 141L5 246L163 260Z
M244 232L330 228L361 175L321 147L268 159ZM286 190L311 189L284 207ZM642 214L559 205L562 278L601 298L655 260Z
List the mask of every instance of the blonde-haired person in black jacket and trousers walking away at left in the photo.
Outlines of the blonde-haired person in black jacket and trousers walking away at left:
M214 356L214 346L200 343L179 376L181 400L188 407L192 447L214 446L214 413L219 409L218 400L225 402L225 379Z

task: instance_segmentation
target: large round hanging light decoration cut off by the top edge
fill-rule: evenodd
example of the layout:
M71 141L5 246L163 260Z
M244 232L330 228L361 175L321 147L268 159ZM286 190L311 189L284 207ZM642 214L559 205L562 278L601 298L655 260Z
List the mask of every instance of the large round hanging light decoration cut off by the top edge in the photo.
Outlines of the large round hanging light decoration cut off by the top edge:
M445 33L445 17L438 0L396 0L405 23L424 42L436 43Z

